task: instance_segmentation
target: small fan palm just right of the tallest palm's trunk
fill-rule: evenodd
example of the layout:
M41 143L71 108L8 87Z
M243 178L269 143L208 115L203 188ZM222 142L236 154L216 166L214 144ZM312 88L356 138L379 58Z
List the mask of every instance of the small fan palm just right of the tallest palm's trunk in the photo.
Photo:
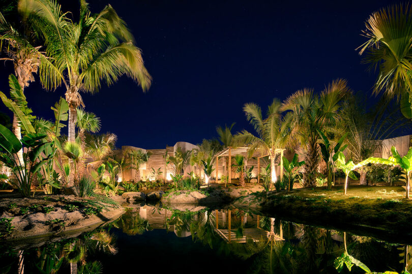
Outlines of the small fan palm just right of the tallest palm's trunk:
M92 112L85 112L84 109L77 109L77 127L79 128L78 131L78 138L80 139L80 147L82 151L85 151L85 146L86 146L86 136L85 136L85 131L87 132L97 132L100 130L100 118L97 117L94 113ZM81 164L80 164L80 169L79 169L79 174L80 176L84 175L85 172L85 158L83 157L81 159Z

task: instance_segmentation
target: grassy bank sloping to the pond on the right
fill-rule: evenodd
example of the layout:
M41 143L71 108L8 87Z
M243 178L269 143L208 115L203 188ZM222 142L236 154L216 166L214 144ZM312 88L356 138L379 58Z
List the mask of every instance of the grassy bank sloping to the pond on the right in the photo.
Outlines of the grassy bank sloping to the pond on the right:
M238 207L297 223L384 235L412 243L412 199L400 186L342 186L294 189L291 192L255 192L238 198Z

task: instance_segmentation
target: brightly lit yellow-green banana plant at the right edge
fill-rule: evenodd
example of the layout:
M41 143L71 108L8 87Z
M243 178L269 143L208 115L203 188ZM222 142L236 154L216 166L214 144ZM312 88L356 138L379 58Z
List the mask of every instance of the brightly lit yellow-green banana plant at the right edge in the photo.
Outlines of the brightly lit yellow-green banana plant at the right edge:
M380 163L387 165L398 165L406 173L406 199L409 199L409 189L410 189L410 172L412 171L412 147L409 148L405 156L401 157L394 146L391 148L392 155L388 159L372 157L367 159L370 163Z

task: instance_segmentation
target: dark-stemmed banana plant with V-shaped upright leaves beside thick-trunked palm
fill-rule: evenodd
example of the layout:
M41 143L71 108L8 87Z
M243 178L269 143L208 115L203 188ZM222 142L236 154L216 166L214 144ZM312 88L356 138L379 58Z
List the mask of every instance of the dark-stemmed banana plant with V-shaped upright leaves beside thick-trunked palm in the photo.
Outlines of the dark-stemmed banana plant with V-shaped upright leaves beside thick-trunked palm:
M318 129L316 130L323 142L319 143L319 147L322 159L325 161L328 169L328 189L330 190L332 189L333 170L335 169L336 160L338 159L339 152L343 152L347 147L347 145L342 146L342 143L348 133L343 134L343 136L336 143L335 147L332 149L332 145L327 136L325 136L322 131Z

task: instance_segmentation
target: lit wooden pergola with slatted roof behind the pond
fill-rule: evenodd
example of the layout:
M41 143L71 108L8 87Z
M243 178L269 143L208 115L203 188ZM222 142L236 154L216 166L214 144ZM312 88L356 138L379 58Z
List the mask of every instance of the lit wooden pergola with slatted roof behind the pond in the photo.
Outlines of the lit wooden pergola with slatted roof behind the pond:
M283 177L283 161L282 161L282 156L283 156L283 151L285 149L282 148L277 148L275 149L275 154L280 153L280 179L282 179ZM216 183L218 183L219 180L219 157L228 157L229 158L229 163L227 166L227 172L228 172L228 183L231 183L231 168L229 168L231 166L231 157L232 156L236 156L236 155L242 155L242 156L247 156L247 153L249 151L249 147L227 147L224 150L222 150L220 153L218 153L216 155ZM260 158L269 156L269 154L258 154L255 155L257 153L253 153L252 157L256 157L257 158L257 183L259 183L260 181Z

